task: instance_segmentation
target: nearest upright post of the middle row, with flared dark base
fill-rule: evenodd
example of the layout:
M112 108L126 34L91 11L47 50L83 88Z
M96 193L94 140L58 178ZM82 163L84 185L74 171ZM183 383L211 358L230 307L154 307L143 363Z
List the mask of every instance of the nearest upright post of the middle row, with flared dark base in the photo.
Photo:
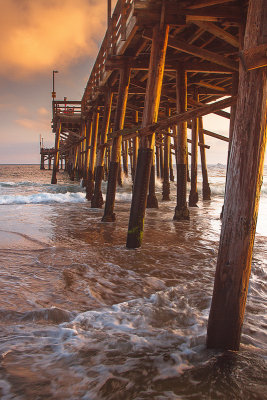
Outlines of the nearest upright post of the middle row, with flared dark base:
M179 67L176 70L176 111L187 111L187 74ZM175 137L176 147L176 171L177 171L177 203L173 219L176 221L188 220L189 210L186 202L187 186L187 122L181 122L177 126Z

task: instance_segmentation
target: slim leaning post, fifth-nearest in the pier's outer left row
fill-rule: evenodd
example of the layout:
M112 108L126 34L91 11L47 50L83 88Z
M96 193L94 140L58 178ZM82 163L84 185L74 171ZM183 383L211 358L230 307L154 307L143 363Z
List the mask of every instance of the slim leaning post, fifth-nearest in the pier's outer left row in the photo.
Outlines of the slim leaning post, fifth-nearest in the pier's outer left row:
M96 160L98 124L99 124L99 107L97 107L93 113L92 137L90 143L90 161L89 161L89 168L86 181L87 200L91 200L94 193L94 171L95 171L95 160Z

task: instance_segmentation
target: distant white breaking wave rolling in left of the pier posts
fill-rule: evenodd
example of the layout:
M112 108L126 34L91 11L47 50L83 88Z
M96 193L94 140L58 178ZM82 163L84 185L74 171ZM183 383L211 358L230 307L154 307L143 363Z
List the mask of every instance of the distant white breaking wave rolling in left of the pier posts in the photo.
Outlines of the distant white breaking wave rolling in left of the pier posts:
M47 204L47 203L84 203L85 193L37 193L25 195L0 196L0 205L7 204Z

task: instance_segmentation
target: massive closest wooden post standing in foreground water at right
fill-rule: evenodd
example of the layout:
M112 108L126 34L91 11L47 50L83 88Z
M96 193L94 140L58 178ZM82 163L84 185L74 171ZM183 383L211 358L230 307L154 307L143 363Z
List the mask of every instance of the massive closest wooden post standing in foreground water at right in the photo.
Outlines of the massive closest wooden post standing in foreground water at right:
M266 43L266 1L249 1L244 51ZM265 20L264 20L265 18ZM207 347L238 350L266 147L266 67L240 68Z

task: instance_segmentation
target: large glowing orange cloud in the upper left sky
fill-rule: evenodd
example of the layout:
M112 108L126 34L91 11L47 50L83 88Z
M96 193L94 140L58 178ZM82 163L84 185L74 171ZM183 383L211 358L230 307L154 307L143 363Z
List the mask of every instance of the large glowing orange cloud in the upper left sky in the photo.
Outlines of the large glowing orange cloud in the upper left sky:
M106 0L8 0L1 4L0 74L20 78L95 56Z

